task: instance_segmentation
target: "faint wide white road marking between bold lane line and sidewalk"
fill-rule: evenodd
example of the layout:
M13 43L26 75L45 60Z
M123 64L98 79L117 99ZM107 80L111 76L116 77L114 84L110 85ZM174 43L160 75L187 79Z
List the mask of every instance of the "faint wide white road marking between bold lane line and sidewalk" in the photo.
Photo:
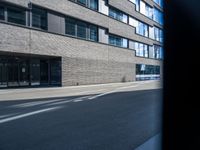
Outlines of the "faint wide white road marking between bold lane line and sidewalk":
M32 107L32 106L37 106L37 105L41 105L41 104L47 104L47 103L62 101L62 100L66 100L66 99L63 98L63 99L56 99L56 100L50 100L50 101L29 102L29 103L13 105L11 107Z

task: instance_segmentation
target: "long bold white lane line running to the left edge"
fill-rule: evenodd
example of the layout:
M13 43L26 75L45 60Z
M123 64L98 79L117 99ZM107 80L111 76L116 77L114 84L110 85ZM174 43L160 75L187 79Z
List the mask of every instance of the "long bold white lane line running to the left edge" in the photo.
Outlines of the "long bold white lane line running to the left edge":
M5 123L5 122L9 122L9 121L13 121L13 120L17 120L17 119L20 119L20 118L24 118L24 117L36 115L36 114L43 113L43 112L56 110L56 109L59 109L59 108L61 108L61 107L46 108L46 109L41 109L41 110L33 111L33 112L30 112L30 113L26 113L26 114L14 116L14 117L6 118L6 119L1 119L0 124Z

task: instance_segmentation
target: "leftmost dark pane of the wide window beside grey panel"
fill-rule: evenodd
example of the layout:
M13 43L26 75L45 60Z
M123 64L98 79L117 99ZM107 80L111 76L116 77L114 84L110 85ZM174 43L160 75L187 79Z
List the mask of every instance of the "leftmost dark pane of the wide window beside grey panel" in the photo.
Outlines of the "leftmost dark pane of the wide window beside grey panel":
M66 18L66 34L76 35L76 21L72 18Z

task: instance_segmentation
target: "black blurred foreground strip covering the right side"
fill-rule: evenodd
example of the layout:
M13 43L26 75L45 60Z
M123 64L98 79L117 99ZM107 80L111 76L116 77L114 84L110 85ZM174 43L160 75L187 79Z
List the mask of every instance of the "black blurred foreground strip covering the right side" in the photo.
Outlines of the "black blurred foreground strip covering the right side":
M200 0L165 3L163 150L200 150Z

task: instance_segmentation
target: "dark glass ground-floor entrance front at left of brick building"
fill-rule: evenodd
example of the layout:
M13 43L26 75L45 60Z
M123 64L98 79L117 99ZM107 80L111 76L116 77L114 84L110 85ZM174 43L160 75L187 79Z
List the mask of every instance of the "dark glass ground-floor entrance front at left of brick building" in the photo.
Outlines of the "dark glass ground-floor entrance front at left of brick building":
M61 85L61 58L0 55L0 88Z

